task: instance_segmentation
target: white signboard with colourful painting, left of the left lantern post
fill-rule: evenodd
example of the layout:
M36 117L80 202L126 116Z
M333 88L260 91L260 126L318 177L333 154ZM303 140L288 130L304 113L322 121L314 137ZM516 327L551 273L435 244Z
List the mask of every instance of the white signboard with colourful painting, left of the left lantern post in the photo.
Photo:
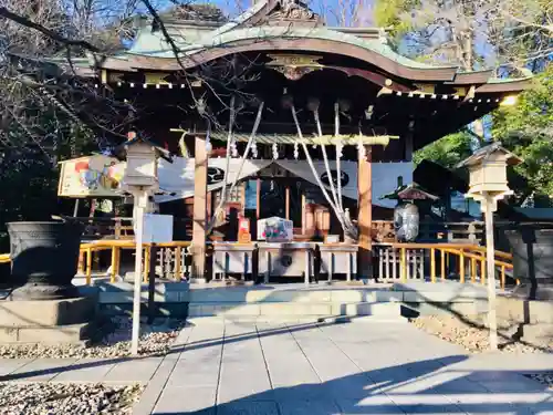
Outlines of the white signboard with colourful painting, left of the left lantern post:
M119 197L125 163L95 155L60 163L58 195L62 197Z

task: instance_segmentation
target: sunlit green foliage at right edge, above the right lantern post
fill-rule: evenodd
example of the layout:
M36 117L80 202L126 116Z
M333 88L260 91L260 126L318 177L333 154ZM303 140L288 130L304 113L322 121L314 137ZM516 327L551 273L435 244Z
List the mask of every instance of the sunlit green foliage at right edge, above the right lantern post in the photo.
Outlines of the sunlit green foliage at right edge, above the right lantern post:
M535 76L514 106L494 113L493 137L524 159L515 170L528 196L553 198L553 64Z

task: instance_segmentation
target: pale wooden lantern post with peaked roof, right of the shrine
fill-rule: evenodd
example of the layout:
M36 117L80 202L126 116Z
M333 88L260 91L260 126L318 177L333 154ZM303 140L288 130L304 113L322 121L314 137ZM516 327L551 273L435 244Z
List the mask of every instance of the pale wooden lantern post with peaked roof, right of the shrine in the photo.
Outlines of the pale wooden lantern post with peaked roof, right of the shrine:
M465 197L480 201L480 209L486 216L486 262L488 276L488 326L490 349L498 349L498 322L495 305L495 247L493 241L493 212L498 200L511 195L507 183L507 166L514 166L522 160L514 154L493 143L478 149L457 167L468 167L470 174L469 191ZM481 271L483 273L483 270Z

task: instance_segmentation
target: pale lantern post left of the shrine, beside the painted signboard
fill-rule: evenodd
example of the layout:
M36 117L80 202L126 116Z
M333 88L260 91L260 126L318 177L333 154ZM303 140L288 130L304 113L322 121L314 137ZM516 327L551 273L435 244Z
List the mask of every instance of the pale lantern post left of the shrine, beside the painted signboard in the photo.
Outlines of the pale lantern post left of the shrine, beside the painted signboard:
M148 196L158 190L157 157L159 148L146 139L128 133L128 141L123 145L123 155L127 160L123 175L122 189L134 197L134 230L136 243L135 281L133 297L133 336L131 352L138 354L140 331L140 297L142 297L142 261L144 211L148 205Z

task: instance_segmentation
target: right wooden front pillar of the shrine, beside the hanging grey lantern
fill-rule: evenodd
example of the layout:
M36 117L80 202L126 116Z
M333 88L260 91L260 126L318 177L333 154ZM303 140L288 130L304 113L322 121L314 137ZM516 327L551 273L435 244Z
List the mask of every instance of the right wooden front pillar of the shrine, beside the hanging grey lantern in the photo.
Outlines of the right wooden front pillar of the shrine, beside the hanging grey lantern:
M359 227L359 251L357 274L362 279L371 278L372 270L372 225L373 225L373 167L371 146L366 146L366 158L357 164L357 206Z

